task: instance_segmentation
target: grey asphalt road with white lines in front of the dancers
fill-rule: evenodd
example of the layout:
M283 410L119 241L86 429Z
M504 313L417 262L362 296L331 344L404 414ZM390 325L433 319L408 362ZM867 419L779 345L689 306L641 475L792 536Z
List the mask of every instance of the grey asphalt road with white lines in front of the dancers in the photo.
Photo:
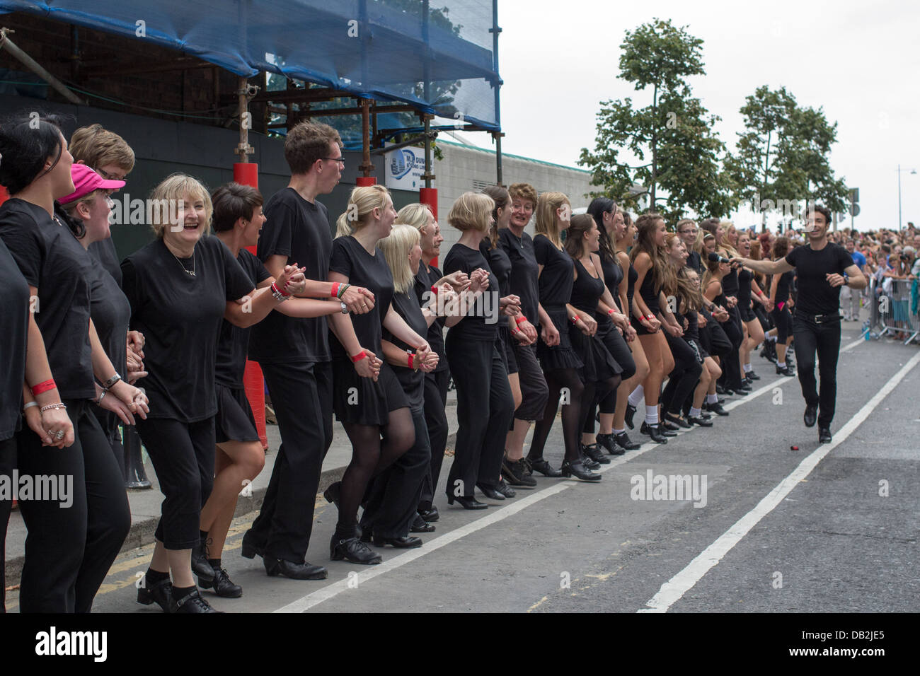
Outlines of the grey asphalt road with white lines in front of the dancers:
M857 342L857 330L845 325L830 448L802 423L798 379L755 357L763 379L731 397L728 418L628 452L598 484L540 477L474 512L447 507L442 493L437 532L419 549L386 548L375 567L328 560L336 510L317 496L307 558L328 566L320 582L268 578L259 558L239 556L250 514L224 552L243 598L203 593L231 613L914 612L920 351ZM559 424L547 449L558 466ZM704 482L705 499L637 499L649 470ZM134 601L150 551L120 557L95 611L160 612Z

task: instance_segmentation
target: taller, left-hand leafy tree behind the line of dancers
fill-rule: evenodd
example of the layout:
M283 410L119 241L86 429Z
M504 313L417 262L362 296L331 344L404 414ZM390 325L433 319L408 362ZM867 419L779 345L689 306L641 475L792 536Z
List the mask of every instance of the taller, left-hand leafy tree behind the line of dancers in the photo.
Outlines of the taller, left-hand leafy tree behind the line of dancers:
M686 78L705 74L703 40L671 21L654 19L627 31L621 45L620 77L637 91L651 88L651 104L635 108L633 100L601 102L594 151L581 149L579 164L592 169L592 185L603 186L595 195L606 195L630 207L648 192L650 205L669 218L680 218L687 209L696 213L730 211L729 180L719 167L725 146L713 132L719 120L692 96ZM620 161L627 148L639 162ZM647 190L637 190L636 184ZM667 198L658 195L659 186ZM663 207L663 208L662 208Z

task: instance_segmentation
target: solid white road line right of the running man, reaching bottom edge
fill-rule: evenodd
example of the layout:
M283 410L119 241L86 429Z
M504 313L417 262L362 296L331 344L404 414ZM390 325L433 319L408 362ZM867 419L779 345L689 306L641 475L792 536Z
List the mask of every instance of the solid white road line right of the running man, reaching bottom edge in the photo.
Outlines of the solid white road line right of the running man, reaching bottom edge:
M719 564L722 557L728 554L735 544L741 542L742 537L749 533L761 519L774 510L776 505L778 505L783 498L788 496L792 489L799 484L799 481L811 474L811 470L822 461L825 455L833 451L838 444L845 441L850 434L857 430L857 427L868 418L869 414L879 406L886 396L891 394L891 391L918 362L920 362L920 353L915 354L913 359L904 364L901 371L895 373L894 376L891 377L891 380L884 384L879 392L869 399L866 405L860 408L853 418L850 418L846 422L844 427L834 436L834 441L819 446L814 453L811 453L811 455L802 460L799 466L770 491L753 510L749 511L740 520L735 522L728 531L722 533L716 542L710 544L699 556L696 556L693 561L687 564L682 571L661 585L661 590L646 603L648 608L640 608L637 612L666 613L687 591L693 589L696 583L702 579L712 567Z

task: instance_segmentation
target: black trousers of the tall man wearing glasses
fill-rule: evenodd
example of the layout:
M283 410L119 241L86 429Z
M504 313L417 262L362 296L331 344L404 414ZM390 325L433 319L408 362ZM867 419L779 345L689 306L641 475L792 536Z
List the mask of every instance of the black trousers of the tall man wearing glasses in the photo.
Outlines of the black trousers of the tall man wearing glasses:
M304 563L319 476L332 443L332 364L262 364L282 445L249 537L267 556Z

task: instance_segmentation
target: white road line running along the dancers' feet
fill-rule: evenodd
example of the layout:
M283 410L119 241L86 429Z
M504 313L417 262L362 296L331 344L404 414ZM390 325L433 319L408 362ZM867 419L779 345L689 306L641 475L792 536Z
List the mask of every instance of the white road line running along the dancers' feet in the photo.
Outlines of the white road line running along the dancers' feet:
M753 401L760 395L763 395L767 392L772 392L775 387L781 386L786 383L791 383L791 382L798 383L798 380L795 378L783 378L780 380L776 380L771 384L766 384L760 389L753 391L750 395L747 395L743 397L742 399L738 399L737 401L733 401L730 404L726 404L725 408L726 410L728 410L731 408L740 407L742 406L742 404L745 404L749 401ZM678 431L678 435L681 435L681 434L684 434L685 432L690 432L696 429L697 428L694 427L690 430L680 430ZM640 455L643 455L644 453L648 453L649 451L653 449L657 449L659 445L660 444L657 444L654 441L646 441L636 451L629 451L625 455L620 455L615 458L612 458L610 464L605 464L604 467L602 467L601 469L595 470L595 474L604 474L604 472L607 472L608 470L612 470L621 464L627 463L635 458L638 458ZM459 540L460 538L466 537L466 535L469 535L471 533L476 533L477 531L485 528L486 526L490 526L493 523L497 523L498 521L507 519L508 517L513 516L514 514L517 514L519 511L527 507L530 507L531 505L539 502L540 500L544 498L549 498L550 496L557 495L558 493L565 490L566 488L577 486L578 483L581 483L581 482L578 482L576 480L559 482L558 484L553 484L550 487L546 487L542 490L532 493L526 498L515 500L515 502L512 505L508 505L507 507L502 507L499 510L492 511L487 516L477 519L476 521L470 521L466 525L456 528L449 533L444 533L443 535L436 537L434 540L426 542L422 547L418 549L413 549L409 552L406 552L405 554L389 559L385 561L384 563L380 564L379 566L368 567L365 571L358 573L358 583L361 584L362 582L366 582L367 580L374 579L381 575L384 575L385 573L388 573L391 570L396 570L398 567L403 567L406 564L411 563L412 561L415 561L416 559L421 558L422 556L431 554L431 552L434 552L447 544L452 544L456 542L457 540ZM338 596L342 591L348 590L349 582L350 580L348 578L340 579L338 582L333 582L332 584L324 587L321 590L316 590L310 594L306 594L304 597L298 599L297 601L288 603L287 605L282 606L281 608L278 608L277 610L273 612L274 613L304 613L305 611L310 610L311 608L318 605L319 603L328 601L329 599L332 599Z

